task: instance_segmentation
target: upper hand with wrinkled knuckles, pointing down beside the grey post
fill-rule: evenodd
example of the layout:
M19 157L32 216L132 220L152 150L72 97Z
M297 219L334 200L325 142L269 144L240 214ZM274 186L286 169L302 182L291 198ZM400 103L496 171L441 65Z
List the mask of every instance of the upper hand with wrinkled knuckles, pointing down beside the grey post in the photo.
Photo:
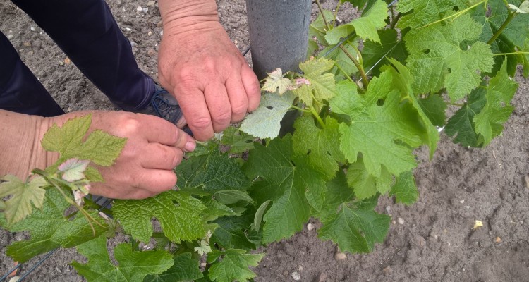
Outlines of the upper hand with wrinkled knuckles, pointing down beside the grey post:
M166 26L159 80L173 93L197 140L242 121L260 102L260 85L218 20Z

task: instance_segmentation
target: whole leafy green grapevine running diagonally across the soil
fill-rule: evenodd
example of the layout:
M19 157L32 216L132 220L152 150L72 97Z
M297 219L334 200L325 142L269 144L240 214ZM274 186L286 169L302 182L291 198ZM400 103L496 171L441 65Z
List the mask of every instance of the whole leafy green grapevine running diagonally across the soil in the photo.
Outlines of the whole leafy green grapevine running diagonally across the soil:
M114 200L103 214L84 196L103 181L94 165L113 164L126 140L87 135L90 116L52 127L42 146L59 161L26 180L1 178L0 226L30 231L7 254L26 262L76 247L88 262L72 265L87 281L248 281L264 255L255 250L310 218L340 250L372 251L391 221L375 211L379 197L419 197L415 149L432 158L441 134L470 147L501 135L512 77L529 76L529 1L343 2L362 16L337 25L316 1L299 71L271 71L259 109L176 168L178 189ZM296 119L284 133L289 111ZM111 259L116 232L130 240Z

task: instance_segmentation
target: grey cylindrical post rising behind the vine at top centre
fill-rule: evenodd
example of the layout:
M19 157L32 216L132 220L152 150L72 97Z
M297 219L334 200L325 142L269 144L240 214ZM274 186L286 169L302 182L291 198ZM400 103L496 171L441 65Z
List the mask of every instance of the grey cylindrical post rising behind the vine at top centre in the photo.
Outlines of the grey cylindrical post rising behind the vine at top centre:
M246 0L253 70L296 71L307 56L312 0Z

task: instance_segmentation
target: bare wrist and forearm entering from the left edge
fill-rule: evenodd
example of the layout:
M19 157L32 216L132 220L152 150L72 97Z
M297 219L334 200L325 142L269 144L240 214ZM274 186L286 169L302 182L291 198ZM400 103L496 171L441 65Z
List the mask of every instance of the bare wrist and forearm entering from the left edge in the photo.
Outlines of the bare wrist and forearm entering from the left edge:
M26 178L33 168L46 168L59 157L40 145L50 118L0 110L0 176Z

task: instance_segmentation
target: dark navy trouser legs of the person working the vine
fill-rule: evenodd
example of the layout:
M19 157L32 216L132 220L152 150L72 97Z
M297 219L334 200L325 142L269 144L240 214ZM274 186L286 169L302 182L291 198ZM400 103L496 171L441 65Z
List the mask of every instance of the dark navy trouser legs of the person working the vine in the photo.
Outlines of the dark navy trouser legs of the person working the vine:
M154 93L154 81L136 63L104 0L12 0L111 102L128 111L143 109ZM63 111L16 49L0 33L0 109L39 116Z

